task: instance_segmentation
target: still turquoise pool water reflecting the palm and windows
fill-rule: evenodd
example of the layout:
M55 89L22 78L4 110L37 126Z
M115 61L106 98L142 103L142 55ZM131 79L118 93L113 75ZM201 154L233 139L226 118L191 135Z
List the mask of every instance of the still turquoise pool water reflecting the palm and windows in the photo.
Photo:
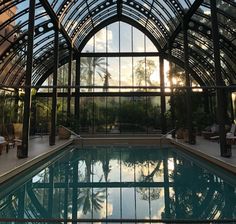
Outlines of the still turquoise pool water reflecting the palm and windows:
M0 187L1 223L4 218L90 223L236 218L235 176L177 149L98 146L67 151Z

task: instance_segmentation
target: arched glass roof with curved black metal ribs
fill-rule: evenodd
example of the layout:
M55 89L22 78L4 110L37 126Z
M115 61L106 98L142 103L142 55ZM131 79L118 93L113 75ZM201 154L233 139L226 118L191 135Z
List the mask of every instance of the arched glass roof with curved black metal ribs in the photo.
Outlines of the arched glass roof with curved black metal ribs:
M101 28L116 21L136 27L166 58L184 62L183 21L188 23L190 67L203 85L214 84L210 0L37 0L32 84L53 66L54 25L60 24L60 62L69 45L80 53ZM226 85L236 84L236 1L217 0L221 69ZM24 83L28 0L0 1L0 84Z

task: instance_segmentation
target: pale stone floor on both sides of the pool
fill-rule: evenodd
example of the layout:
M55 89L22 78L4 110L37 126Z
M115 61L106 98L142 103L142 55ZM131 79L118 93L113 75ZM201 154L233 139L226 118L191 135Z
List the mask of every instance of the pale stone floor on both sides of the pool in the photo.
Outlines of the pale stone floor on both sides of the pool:
M236 145L232 146L232 157L224 158L220 156L220 146L217 142L205 140L202 137L197 138L196 145L189 145L181 140L171 138L170 141L236 173ZM3 151L0 156L0 183L6 178L9 178L9 176L7 177L8 173L14 170L17 172L18 167L23 166L26 163L30 163L32 160L37 159L39 155L47 154L50 151L53 151L53 149L70 144L72 139L69 141L57 140L54 146L49 146L48 142L48 136L31 139L29 141L29 156L25 159L17 158L15 148L10 149L8 153Z

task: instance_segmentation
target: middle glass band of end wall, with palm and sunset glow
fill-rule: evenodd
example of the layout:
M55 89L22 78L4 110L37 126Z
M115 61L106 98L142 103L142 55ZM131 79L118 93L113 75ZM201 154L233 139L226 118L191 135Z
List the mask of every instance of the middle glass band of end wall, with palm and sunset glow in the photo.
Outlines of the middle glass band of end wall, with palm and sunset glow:
M83 57L80 72L81 92L160 91L159 57Z

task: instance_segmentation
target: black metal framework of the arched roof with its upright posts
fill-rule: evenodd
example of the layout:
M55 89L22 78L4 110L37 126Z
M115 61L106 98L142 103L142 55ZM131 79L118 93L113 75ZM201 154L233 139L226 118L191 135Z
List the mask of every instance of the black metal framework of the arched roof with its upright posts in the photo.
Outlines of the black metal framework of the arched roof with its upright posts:
M7 12L11 7L17 6L26 0L1 1L1 13ZM29 1L32 4L31 1ZM18 27L13 27L6 37L1 35L0 46L4 42L9 45L0 55L0 80L2 86L23 87L25 88L25 116L23 128L23 148L24 156L27 155L28 145L28 126L30 113L30 91L31 85L40 85L53 73L56 77L57 69L60 65L69 62L68 72L68 104L67 111L70 114L71 90L71 63L72 58L83 56L81 53L86 42L101 28L116 22L124 21L141 30L153 41L158 49L158 53L150 52L147 55L160 55L173 62L178 62L185 67L187 77L187 87L190 86L189 74L203 86L227 86L236 84L236 45L235 29L224 23L224 18L233 25L236 23L235 15L228 9L223 10L214 5L214 1L204 2L196 0L193 4L185 0L183 6L179 1L164 1L163 5L158 0L146 1L80 1L72 0L52 1L51 5L47 0L40 0L35 6L33 15L31 5L13 15L9 20L0 25L0 30L10 26L16 19L23 18L26 13L30 13L30 19L25 20ZM222 4L227 4L229 9L235 8L233 1L222 0ZM211 9L211 16L200 10L200 7ZM184 8L184 7L187 7ZM44 9L44 12L39 12ZM78 10L80 9L80 10ZM37 11L39 10L39 11ZM224 17L222 21L217 21L219 17ZM49 17L48 17L49 16ZM35 17L35 24L32 18ZM44 20L42 22L42 20ZM79 21L79 22L77 22ZM50 25L52 23L52 25ZM210 25L212 24L212 25ZM24 27L28 26L28 29ZM183 29L184 27L184 29ZM219 33L218 28L221 29ZM20 30L25 30L20 33ZM32 30L35 30L34 35ZM58 36L58 44L54 45L52 32L62 34ZM197 34L197 35L196 35ZM14 41L9 38L16 36ZM58 34L59 35L59 34ZM27 51L25 50L27 48ZM57 48L58 50L55 50ZM75 53L74 56L72 51ZM25 53L27 52L27 58ZM58 55L55 57L55 54ZM114 53L114 56L125 55L125 53ZM76 55L76 56L75 56ZM86 54L84 54L86 55ZM89 54L87 54L89 56ZM91 54L96 55L96 54ZM112 54L101 53L97 55L112 56ZM130 54L131 55L131 54ZM140 54L133 53L132 56ZM55 58L58 58L55 60ZM161 60L163 60L161 58ZM15 61L14 65L12 61ZM52 63L54 62L54 63ZM79 63L79 62L78 62ZM79 65L77 63L76 85L79 82ZM221 63L223 66L221 66ZM54 64L54 66L53 66ZM56 64L56 65L55 65ZM7 69L10 67L10 69ZM26 70L25 70L26 67ZM163 71L161 70L161 74ZM54 78L55 78L54 77ZM162 76L161 76L162 77ZM216 80L216 81L215 81ZM161 92L164 95L163 81L161 82ZM56 81L54 82L56 86ZM56 88L53 89L53 102L56 102ZM188 102L188 126L191 127L191 105L187 88ZM221 105L225 94L222 89L216 89L218 98L218 108L220 114L220 139L221 155L225 156L226 142L224 130L224 111L225 105ZM76 88L76 107L79 108L79 89ZM164 98L162 97L162 105ZM55 109L55 108L54 108ZM162 107L162 115L165 108ZM54 111L55 112L55 111ZM54 113L56 116L56 112ZM52 135L55 135L55 116L53 115ZM79 117L78 111L76 116ZM164 116L163 130L165 132ZM52 136L52 137L53 137ZM52 140L52 143L54 140Z

